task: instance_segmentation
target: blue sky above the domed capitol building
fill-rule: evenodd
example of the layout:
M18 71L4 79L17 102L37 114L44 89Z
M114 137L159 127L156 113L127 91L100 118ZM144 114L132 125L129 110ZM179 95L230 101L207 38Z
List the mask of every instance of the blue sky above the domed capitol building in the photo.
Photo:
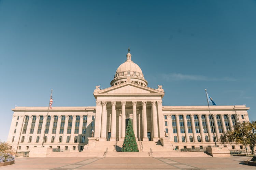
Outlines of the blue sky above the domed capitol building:
M163 105L251 107L256 120L256 1L0 1L0 139L11 108L95 106L130 47Z

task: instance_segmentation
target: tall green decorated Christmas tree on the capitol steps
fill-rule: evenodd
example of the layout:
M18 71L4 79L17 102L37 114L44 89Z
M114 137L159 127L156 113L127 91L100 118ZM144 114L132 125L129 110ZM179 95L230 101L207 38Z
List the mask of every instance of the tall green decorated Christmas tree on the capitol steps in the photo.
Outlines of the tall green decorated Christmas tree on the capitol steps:
M131 119L129 119L126 128L122 152L139 152L138 145L131 125Z

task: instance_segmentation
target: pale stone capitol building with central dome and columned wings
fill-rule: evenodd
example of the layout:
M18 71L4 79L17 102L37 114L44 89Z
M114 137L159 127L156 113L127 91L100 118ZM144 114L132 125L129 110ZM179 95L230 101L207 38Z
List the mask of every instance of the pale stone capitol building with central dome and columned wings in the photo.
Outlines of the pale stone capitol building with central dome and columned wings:
M214 146L215 140L218 146L244 149L242 144L221 144L220 138L236 122L249 121L249 107L210 106L210 117L207 105L163 106L165 87L148 87L131 59L128 52L110 87L96 86L95 106L52 107L48 116L48 107L13 108L9 145L15 151L40 148L42 143L44 148L70 152L118 151L130 118L140 152L193 150Z

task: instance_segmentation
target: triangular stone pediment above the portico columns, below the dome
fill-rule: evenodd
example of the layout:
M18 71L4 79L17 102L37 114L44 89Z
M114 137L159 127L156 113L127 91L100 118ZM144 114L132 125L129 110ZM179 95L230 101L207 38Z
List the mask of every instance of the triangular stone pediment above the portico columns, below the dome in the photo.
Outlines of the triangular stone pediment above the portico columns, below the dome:
M120 85L112 86L109 88L105 88L99 91L94 92L94 95L150 95L150 94L155 94L155 95L164 95L164 92L138 85L132 82L126 82Z

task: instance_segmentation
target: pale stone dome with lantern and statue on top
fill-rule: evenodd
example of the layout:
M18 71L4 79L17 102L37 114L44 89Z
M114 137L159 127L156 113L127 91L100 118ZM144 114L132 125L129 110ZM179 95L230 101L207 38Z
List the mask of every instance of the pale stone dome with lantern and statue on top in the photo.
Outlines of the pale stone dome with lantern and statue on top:
M126 54L126 58L127 60L116 69L114 80L110 83L111 86L124 83L127 80L147 86L147 81L144 79L144 75L140 67L131 61L131 54L129 52Z

